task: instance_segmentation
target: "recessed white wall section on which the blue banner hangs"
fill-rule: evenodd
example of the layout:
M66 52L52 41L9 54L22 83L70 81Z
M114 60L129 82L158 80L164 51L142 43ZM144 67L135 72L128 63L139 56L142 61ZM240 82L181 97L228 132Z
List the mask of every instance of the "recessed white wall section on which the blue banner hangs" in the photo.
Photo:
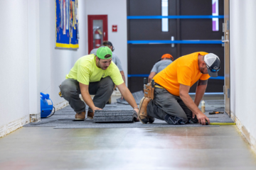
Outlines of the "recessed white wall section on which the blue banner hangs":
M40 91L50 94L53 104L65 101L58 96L58 86L65 80L65 75L78 58L87 55L87 36L85 30L87 18L85 1L79 1L79 49L68 50L55 48L55 1L40 0Z

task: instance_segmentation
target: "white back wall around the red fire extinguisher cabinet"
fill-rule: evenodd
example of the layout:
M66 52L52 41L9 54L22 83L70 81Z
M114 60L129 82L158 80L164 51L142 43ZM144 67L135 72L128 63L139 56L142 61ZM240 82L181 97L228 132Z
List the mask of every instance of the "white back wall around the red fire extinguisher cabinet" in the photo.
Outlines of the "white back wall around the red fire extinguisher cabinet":
M127 1L85 0L84 8L79 7L79 11L84 10L86 15L107 15L108 40L114 45L114 53L122 62L127 81ZM87 25L87 18L85 24ZM117 33L112 32L112 25L117 25ZM87 38L87 27L85 30ZM86 49L88 49L88 45L86 45Z

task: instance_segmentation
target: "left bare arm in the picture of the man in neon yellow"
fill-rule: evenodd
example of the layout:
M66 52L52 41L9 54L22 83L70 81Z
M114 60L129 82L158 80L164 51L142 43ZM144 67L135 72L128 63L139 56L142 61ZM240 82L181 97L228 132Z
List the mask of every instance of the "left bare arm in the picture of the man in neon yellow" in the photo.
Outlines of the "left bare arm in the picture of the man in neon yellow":
M89 94L89 85L79 83L79 86L80 86L80 91L82 94L82 99L85 101L87 106L89 106L89 108L91 108L93 112L95 112L95 110L102 110L101 108L97 108L94 105L92 98Z

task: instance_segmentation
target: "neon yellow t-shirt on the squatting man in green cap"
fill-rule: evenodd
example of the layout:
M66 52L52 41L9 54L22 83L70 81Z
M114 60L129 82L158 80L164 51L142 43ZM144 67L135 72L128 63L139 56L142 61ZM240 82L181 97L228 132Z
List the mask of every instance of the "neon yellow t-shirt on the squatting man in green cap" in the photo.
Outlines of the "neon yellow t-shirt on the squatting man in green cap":
M95 60L96 57L93 54L80 57L65 78L78 80L78 82L85 85L100 81L105 77L110 77L116 85L124 83L122 75L114 62L111 62L110 66L103 70L97 67Z

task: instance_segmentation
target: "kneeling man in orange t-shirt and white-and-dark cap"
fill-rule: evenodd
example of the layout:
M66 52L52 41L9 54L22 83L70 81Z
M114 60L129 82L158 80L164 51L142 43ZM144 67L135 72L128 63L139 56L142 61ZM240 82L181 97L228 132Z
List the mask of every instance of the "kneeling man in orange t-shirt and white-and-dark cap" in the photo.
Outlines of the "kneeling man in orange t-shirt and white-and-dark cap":
M165 120L170 125L210 123L198 106L206 91L208 79L218 77L219 70L220 59L212 53L194 52L179 57L154 77L154 100L142 98L139 103L139 120L144 124L153 123L154 118ZM193 101L188 91L196 81L198 86Z

